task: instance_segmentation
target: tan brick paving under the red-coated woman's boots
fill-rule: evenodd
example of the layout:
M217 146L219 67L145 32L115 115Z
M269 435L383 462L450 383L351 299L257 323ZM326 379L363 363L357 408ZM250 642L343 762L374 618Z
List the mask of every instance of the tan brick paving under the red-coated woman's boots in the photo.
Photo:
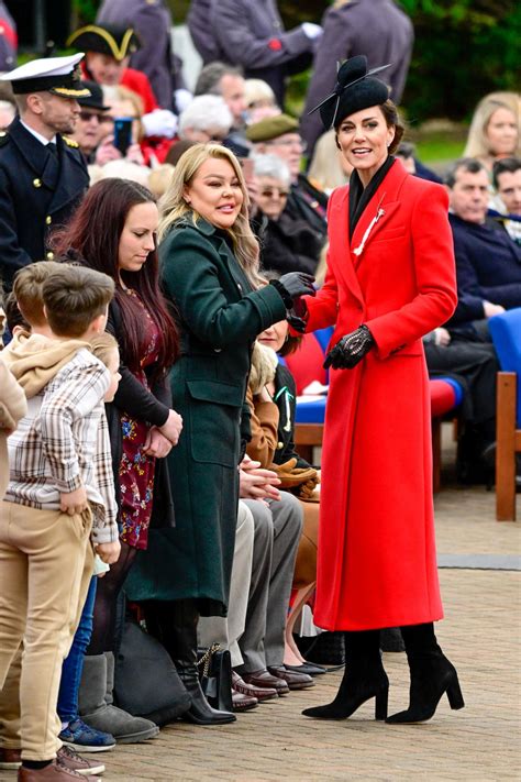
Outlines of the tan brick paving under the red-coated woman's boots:
M519 553L521 525L496 522L494 503L494 493L484 489L441 492L436 497L440 552ZM458 669L464 711L451 712L444 698L431 723L415 726L375 723L369 705L343 723L301 717L306 706L334 696L341 674L331 673L318 678L313 690L265 703L234 725L201 728L177 723L146 745L118 747L103 755L104 779L521 780L521 575L443 569L440 577L445 621L437 634ZM385 665L392 713L407 705L406 658L387 653ZM0 772L2 782L13 778Z

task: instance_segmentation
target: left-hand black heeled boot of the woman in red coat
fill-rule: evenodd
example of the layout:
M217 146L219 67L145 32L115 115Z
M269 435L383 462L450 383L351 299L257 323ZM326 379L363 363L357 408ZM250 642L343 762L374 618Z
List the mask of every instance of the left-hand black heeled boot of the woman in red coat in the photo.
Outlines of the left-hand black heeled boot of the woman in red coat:
M373 697L375 719L387 717L389 680L381 664L379 637L379 630L345 634L345 671L336 697L325 706L306 708L306 717L346 719Z

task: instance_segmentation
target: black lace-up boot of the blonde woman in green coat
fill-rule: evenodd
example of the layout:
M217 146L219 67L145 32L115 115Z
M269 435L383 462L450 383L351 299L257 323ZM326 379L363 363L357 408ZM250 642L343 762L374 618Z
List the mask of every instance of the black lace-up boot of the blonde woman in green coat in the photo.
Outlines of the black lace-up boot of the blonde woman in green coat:
M179 679L191 697L191 706L182 715L197 725L234 723L231 712L212 708L204 697L197 669L197 624L199 612L195 599L148 602L145 607L148 632L155 636L173 659Z

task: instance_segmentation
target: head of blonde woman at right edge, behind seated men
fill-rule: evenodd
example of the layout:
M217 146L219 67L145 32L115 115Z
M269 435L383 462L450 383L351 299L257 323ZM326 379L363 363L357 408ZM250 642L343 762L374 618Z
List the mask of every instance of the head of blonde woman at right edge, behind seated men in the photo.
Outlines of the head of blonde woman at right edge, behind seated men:
M464 157L477 157L491 172L501 157L520 156L521 96L490 92L476 107Z

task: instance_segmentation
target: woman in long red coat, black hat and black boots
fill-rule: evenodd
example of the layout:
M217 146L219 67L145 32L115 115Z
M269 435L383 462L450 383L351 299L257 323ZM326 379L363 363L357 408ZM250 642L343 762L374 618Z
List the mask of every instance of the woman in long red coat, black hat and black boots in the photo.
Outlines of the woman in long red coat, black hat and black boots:
M374 73L374 71L372 71ZM388 722L429 719L457 673L436 643L443 617L434 542L431 417L422 337L456 305L453 242L442 187L412 177L392 153L403 133L364 56L344 63L319 107L354 167L329 202L328 275L300 299L306 330L334 324L325 416L314 620L346 631L347 664L332 704L304 715L340 719L389 682L380 628L400 626L410 706ZM296 328L298 318L290 318Z

